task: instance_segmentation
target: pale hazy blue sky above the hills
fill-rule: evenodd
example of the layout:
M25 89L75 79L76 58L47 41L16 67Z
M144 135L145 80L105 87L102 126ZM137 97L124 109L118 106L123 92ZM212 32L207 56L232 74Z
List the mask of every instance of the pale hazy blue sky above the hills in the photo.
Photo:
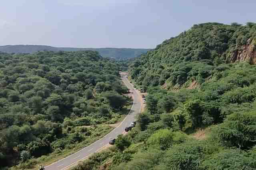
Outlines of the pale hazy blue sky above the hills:
M195 23L256 22L256 0L2 0L0 45L154 48Z

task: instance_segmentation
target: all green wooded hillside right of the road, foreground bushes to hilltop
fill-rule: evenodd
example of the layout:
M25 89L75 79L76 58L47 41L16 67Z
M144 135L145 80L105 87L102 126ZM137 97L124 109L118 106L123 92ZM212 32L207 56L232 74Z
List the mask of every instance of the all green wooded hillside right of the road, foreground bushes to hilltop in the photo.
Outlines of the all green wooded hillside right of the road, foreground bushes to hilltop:
M148 93L136 128L74 170L256 169L255 55L255 23L202 23L164 41L130 66Z

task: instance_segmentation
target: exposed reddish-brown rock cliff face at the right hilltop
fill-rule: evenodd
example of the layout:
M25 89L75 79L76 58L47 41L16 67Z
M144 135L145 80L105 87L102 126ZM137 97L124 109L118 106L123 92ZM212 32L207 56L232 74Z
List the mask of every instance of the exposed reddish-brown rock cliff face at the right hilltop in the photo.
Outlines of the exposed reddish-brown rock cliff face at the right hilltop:
M252 39L248 39L246 45L243 45L241 49L233 51L230 54L230 61L232 63L248 61L251 64L256 64L256 45Z

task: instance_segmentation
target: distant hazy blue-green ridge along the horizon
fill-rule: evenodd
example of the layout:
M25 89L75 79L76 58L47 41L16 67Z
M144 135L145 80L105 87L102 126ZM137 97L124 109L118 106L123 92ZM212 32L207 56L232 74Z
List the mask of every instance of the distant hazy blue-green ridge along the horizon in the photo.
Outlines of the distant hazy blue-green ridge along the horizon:
M127 48L70 48L51 47L46 45L5 45L0 46L0 51L5 53L36 53L38 51L98 51L102 57L117 60L130 59L146 53L150 49L127 49Z

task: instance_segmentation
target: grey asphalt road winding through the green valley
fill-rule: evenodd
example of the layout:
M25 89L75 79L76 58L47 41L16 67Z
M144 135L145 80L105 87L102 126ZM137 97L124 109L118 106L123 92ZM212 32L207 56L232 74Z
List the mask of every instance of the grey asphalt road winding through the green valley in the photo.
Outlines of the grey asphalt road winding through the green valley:
M122 78L124 84L127 86L128 89L132 90L133 86L130 84L127 78ZM108 133L105 137L102 139L92 143L88 147L85 147L78 152L67 156L66 158L63 158L57 162L54 162L53 164L50 164L45 167L45 170L64 170L68 169L70 166L76 164L79 160L82 160L89 156L92 153L97 152L98 150L102 149L104 146L108 145L110 139L116 138L119 134L122 134L124 132L124 129L130 125L132 121L134 121L135 116L140 113L141 108L141 100L140 100L140 94L138 90L134 90L134 102L132 105L132 108L129 112L129 114L124 118L122 123L118 125L114 130L112 130L110 133Z

